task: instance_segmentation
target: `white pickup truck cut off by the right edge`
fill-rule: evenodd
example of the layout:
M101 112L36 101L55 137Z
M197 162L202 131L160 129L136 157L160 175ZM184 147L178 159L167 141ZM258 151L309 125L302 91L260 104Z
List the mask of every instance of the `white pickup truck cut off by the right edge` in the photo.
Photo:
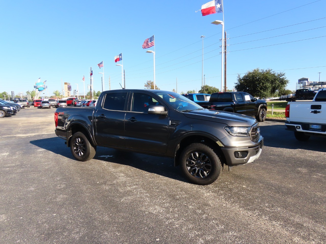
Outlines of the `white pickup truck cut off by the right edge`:
M285 116L287 130L299 141L326 136L326 88L319 89L312 102L288 102Z

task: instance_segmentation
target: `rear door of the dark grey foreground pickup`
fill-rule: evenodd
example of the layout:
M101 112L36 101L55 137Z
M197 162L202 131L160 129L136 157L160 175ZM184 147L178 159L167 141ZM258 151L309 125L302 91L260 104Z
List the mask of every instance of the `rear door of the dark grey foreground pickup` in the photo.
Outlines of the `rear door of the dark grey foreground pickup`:
M95 111L95 139L100 145L125 147L125 116L128 92L105 94Z

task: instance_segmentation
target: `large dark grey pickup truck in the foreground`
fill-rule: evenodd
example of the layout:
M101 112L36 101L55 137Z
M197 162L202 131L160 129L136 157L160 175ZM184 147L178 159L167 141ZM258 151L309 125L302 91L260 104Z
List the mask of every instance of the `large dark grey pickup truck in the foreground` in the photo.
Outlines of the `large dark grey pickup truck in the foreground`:
M104 91L96 107L57 108L55 134L79 161L96 146L174 158L192 183L206 185L230 167L259 158L263 137L256 119L212 111L161 90Z

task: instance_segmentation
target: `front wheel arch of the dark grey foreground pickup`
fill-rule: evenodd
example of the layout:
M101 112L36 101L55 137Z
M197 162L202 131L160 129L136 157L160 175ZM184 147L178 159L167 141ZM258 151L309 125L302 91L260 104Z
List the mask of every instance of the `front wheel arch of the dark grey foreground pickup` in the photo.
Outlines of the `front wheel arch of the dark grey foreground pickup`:
M202 144L209 146L210 148L212 148L215 151L215 153L218 156L221 156L221 158L220 158L221 163L226 164L224 154L220 148L221 147L220 145L223 146L223 144L220 142L220 140L218 140L216 137L214 137L210 134L206 134L206 133L187 133L185 136L182 137L182 139L180 140L180 142L176 145L176 147L174 149L174 166L175 167L177 167L180 164L179 158L180 158L180 154L183 151L183 149L192 143L202 143Z

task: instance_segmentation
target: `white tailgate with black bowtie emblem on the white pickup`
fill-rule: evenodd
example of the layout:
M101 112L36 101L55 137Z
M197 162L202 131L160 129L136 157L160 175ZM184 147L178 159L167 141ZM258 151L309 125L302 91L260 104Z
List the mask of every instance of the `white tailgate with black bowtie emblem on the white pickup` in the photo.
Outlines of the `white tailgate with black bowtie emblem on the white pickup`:
M291 122L325 124L326 102L290 102Z

